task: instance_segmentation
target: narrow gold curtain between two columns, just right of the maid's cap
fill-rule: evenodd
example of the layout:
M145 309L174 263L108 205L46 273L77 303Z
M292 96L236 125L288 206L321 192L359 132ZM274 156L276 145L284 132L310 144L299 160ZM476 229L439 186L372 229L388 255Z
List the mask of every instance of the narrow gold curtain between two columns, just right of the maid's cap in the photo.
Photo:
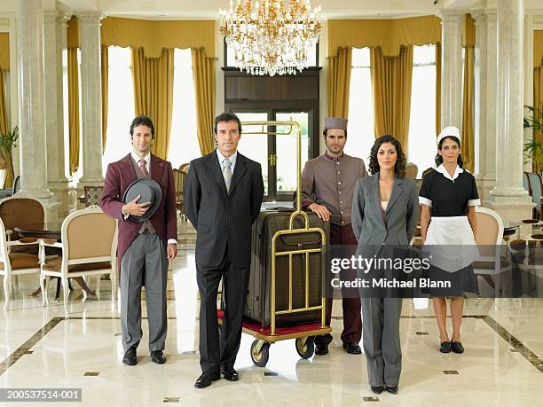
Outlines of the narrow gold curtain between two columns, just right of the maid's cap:
M464 49L464 86L462 92L461 150L464 168L475 169L475 131L473 128L475 93L475 48Z

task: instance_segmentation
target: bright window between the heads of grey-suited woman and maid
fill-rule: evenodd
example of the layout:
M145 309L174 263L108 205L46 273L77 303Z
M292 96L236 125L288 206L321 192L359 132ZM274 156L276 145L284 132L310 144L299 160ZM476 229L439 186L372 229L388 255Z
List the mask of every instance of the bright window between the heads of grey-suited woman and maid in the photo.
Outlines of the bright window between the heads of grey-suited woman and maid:
M419 168L434 167L436 145L436 46L413 46L413 79L407 160Z

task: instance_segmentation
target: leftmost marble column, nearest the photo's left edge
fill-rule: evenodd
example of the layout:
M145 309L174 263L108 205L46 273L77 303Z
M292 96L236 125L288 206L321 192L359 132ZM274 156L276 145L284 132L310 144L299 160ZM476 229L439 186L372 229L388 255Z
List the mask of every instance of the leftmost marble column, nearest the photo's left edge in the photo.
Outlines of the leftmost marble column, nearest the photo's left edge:
M20 195L49 200L45 158L42 0L17 2Z

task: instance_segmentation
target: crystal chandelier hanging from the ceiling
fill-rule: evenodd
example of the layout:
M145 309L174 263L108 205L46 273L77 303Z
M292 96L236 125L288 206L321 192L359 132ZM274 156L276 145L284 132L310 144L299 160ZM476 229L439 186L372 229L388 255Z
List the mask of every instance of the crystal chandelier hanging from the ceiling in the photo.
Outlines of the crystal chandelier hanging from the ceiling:
M234 52L235 66L248 74L295 74L308 67L319 39L321 7L310 0L237 0L219 10L220 32Z

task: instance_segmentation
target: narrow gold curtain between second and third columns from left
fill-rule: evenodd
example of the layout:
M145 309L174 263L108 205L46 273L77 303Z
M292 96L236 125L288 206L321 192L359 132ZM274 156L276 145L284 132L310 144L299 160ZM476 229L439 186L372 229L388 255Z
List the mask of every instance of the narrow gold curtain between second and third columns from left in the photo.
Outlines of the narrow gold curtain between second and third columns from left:
M67 51L68 134L70 140L70 172L79 168L79 60L77 48Z

